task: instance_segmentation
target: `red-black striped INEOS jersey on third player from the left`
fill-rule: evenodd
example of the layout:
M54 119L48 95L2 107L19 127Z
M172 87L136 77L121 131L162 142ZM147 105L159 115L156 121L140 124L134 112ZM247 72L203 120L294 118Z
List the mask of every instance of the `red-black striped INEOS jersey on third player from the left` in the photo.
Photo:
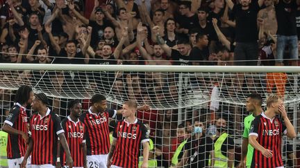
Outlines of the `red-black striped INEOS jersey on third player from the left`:
M83 143L85 143L85 125L78 120L74 122L69 116L62 121L65 130L65 138L69 145L69 150L74 161L74 167L83 167ZM65 166L66 153L60 149L60 162Z

